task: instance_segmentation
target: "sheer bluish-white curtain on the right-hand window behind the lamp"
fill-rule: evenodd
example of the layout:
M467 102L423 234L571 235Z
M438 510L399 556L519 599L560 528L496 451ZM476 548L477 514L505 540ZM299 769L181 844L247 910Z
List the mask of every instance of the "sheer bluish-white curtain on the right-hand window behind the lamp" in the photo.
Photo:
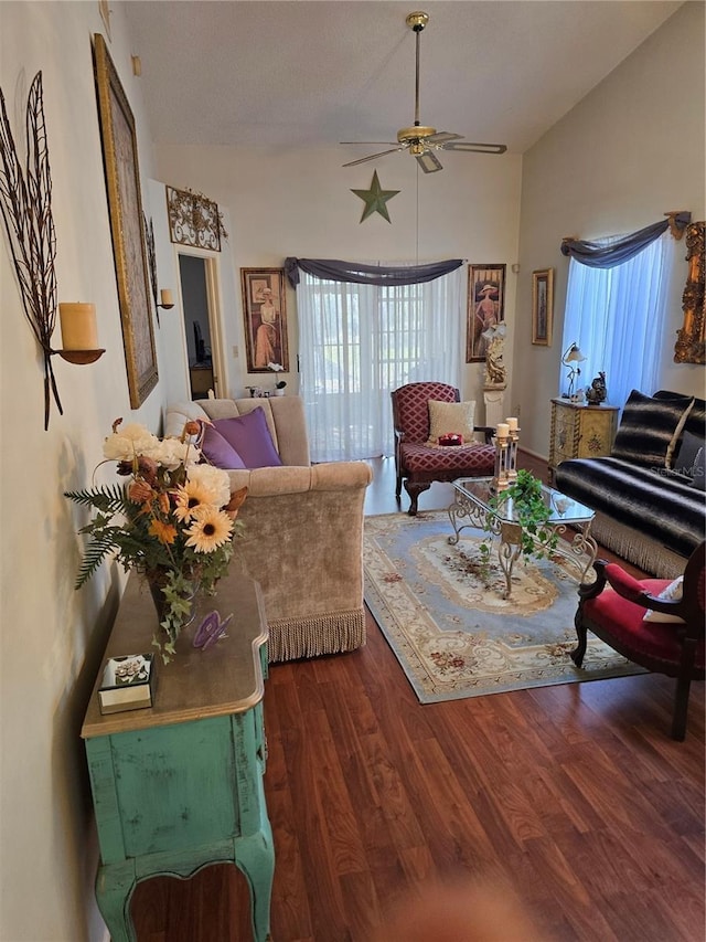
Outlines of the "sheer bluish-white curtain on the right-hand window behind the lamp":
M609 245L619 236L595 240ZM606 372L608 401L622 405L631 390L652 394L659 381L666 299L675 242L668 233L613 268L569 262L561 350L576 342L586 357L577 388ZM561 367L559 392L565 392Z

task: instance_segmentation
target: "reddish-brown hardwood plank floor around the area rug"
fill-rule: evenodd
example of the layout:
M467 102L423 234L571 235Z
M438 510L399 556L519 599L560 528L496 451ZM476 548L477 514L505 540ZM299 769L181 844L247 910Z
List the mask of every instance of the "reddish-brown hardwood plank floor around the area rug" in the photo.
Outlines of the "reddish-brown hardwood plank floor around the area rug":
M374 464L366 514L393 512L392 462ZM449 487L420 509L447 506ZM481 879L501 899L514 888L537 940L702 942L704 684L683 743L668 738L673 681L655 675L421 706L367 629L357 652L270 669L275 942L403 942L376 935L391 906ZM139 942L252 938L233 867L141 883L132 911Z

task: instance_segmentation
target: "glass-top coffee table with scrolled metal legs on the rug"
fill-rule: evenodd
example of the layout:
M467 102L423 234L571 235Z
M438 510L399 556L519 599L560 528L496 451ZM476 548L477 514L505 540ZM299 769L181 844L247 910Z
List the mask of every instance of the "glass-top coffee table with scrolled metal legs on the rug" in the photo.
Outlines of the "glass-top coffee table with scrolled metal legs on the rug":
M494 494L491 490L491 481L490 477L459 478L453 481L456 494L448 509L453 536L449 537L449 543L456 546L461 530L468 527L475 527L493 537L500 537L498 559L505 576L503 597L509 599L512 589L512 569L522 551L523 531L517 521L517 511L512 498L499 501L496 507L492 506L491 499ZM541 539L538 536L531 534L532 541L537 550L544 551L547 555L558 555L573 563L579 573L579 581L584 582L598 552L598 544L590 536L596 515L590 507L573 500L552 487L543 485L542 491L552 516L545 527L546 538ZM574 537L570 540L559 539L556 547L552 547L554 537L563 537L567 527L576 530Z

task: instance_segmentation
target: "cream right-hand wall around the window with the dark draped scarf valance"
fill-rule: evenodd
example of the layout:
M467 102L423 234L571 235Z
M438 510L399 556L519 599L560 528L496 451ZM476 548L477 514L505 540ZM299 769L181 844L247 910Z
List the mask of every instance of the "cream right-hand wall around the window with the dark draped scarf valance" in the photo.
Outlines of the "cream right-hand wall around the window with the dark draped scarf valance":
M539 455L548 453L549 400L565 372L561 239L633 232L670 210L703 220L704 115L704 4L685 3L524 156L511 400L522 403L522 444ZM685 252L682 242L659 388L703 396L704 368L673 362ZM534 347L532 272L548 267L555 268L554 342ZM610 398L610 377L607 383Z

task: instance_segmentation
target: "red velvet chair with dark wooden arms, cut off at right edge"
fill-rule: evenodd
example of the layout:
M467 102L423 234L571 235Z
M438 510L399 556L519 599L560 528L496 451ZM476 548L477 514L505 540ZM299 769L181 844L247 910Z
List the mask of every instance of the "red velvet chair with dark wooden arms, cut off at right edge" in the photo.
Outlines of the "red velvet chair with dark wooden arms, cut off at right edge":
M575 624L578 646L571 652L577 667L584 663L587 631L591 631L634 664L656 674L676 677L672 738L683 740L692 680L704 671L704 547L694 550L684 570L680 601L656 596L668 579L633 579L617 563L597 560L598 579L579 589ZM648 608L676 615L681 622L644 621Z

